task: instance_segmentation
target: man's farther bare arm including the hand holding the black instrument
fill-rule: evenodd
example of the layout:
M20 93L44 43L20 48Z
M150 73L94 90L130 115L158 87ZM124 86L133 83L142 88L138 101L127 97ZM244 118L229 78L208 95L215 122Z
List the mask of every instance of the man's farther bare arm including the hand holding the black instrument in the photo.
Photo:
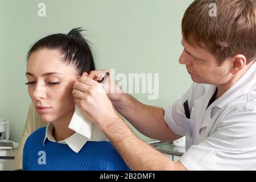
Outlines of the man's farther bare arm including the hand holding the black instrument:
M89 77L93 80L101 80L106 72L108 71L92 71ZM142 134L161 141L172 141L181 137L164 121L163 109L144 105L129 94L123 93L111 75L105 82L104 89L115 109Z

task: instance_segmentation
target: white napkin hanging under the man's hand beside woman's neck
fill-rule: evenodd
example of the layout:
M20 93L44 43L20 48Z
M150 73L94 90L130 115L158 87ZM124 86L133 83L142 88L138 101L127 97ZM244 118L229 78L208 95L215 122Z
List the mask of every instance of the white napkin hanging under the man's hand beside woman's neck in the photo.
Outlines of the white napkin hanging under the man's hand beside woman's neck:
M76 131L76 133L88 138L90 141L109 141L97 125L82 114L82 111L77 105L75 105L75 113L73 114L68 127L69 129Z

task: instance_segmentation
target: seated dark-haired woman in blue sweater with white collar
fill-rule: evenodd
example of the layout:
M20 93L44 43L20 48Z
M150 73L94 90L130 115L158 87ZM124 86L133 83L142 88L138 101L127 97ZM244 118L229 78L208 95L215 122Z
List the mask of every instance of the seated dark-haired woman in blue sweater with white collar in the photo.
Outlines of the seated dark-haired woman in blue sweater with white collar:
M80 32L49 35L28 51L28 93L48 125L27 138L23 170L129 170L109 142L87 141L68 128L75 108L73 84L95 69Z

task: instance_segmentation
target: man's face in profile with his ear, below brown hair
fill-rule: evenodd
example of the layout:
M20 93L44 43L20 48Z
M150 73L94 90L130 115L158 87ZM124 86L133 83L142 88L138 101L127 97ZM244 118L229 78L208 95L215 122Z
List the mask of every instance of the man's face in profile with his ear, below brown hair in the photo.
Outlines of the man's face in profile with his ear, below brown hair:
M232 61L227 59L221 65L218 65L216 58L206 49L200 48L193 41L189 44L184 38L184 51L182 52L179 63L185 64L189 75L196 83L221 85L232 78L230 69Z

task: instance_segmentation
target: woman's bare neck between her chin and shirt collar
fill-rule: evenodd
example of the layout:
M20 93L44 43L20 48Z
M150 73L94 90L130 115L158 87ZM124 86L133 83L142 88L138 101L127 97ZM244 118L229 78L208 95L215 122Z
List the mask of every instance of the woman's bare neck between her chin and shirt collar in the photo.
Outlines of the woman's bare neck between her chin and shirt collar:
M70 113L66 114L64 117L58 119L55 122L52 122L52 125L54 126L52 135L57 142L67 139L71 137L71 135L75 134L75 131L69 129L68 127L71 121L71 118L73 116L73 113L74 111L71 111Z

